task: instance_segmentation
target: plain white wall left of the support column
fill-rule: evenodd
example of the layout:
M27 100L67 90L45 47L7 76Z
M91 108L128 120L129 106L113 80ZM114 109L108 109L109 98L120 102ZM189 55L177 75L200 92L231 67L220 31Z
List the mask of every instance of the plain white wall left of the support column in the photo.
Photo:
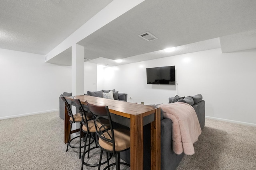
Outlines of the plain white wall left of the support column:
M71 91L71 67L44 62L44 55L0 49L0 119L59 109Z

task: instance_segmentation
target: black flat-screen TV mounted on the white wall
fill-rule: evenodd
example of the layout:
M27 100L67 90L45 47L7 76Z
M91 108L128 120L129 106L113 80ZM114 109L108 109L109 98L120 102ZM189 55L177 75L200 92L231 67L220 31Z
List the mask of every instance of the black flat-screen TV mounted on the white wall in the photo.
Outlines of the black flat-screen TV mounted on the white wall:
M175 84L175 66L147 68L147 84Z

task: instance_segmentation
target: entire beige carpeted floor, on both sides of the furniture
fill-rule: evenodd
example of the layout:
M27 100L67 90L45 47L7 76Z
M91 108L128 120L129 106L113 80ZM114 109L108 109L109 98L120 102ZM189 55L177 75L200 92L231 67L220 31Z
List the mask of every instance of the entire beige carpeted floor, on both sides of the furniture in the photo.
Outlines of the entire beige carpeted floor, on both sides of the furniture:
M0 170L81 169L78 149L66 152L58 111L0 120L0 129ZM177 170L256 170L256 127L206 119L194 147L195 154L184 156ZM94 163L100 152L90 155L87 161Z

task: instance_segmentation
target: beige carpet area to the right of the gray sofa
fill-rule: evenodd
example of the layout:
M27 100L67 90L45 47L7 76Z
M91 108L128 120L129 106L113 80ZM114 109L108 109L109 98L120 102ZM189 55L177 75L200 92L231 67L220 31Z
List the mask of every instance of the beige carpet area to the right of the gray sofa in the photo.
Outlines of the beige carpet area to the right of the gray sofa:
M194 148L177 170L256 170L256 127L206 119Z

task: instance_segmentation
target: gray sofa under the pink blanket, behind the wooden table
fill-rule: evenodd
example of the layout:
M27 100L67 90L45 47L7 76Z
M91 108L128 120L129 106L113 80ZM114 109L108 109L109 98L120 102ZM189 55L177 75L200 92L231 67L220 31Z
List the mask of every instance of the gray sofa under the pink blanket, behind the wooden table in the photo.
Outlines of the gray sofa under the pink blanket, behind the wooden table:
M190 104L196 111L201 129L204 128L205 122L205 101L202 100L202 95L169 98L169 103L185 102ZM144 170L150 169L150 124L144 126ZM196 152L196 150L195 150ZM184 153L176 154L172 150L172 120L164 118L161 109L161 170L175 170L182 160ZM130 150L120 153L120 158L126 162L130 162Z

